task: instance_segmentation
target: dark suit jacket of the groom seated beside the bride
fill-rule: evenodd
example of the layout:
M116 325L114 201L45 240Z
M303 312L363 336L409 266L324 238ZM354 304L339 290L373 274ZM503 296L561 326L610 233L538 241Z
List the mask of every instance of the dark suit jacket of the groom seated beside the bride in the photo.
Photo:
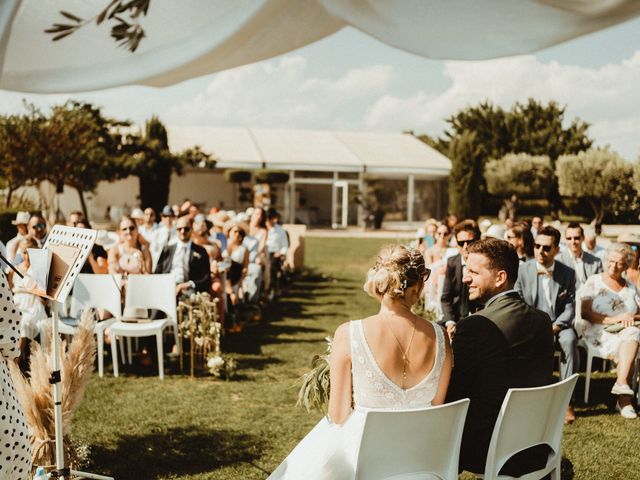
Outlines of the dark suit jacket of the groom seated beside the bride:
M507 293L460 320L452 348L455 360L447 401L471 399L462 435L460 470L483 473L507 390L548 385L553 380L551 322L546 313L528 306L516 292ZM539 460L540 455L515 459L508 473L517 475L530 468L531 461L536 464Z

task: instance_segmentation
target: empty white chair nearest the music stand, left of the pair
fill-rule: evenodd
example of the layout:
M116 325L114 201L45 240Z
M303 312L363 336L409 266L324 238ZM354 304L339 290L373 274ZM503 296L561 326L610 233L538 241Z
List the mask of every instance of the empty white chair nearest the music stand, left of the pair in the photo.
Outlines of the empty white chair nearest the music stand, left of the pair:
M80 317L90 308L109 312L113 318L96 322L94 332L98 343L98 374L104 375L104 332L120 319L120 275L101 275L81 273L76 277L71 293L69 314L64 312L58 324L59 331L65 335L75 335Z

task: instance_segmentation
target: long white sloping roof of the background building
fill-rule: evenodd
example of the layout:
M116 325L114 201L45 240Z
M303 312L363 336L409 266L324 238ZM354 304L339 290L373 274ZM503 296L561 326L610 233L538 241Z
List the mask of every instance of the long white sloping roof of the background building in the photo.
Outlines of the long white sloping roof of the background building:
M451 161L413 135L256 128L169 127L169 147L199 145L220 168L417 174L445 178Z

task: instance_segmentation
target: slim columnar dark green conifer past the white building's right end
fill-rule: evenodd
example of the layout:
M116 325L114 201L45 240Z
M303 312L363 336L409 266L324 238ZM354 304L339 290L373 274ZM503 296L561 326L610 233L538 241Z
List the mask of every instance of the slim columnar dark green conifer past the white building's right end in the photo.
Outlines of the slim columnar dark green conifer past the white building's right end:
M477 218L482 198L482 155L477 132L463 131L449 143L449 210L463 218Z

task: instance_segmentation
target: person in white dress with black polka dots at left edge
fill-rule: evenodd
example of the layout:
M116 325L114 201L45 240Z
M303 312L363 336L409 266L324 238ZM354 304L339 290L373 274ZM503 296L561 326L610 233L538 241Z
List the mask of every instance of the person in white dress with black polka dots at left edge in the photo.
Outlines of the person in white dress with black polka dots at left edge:
M19 330L20 312L0 272L0 480L31 477L29 430L8 367L20 354Z

